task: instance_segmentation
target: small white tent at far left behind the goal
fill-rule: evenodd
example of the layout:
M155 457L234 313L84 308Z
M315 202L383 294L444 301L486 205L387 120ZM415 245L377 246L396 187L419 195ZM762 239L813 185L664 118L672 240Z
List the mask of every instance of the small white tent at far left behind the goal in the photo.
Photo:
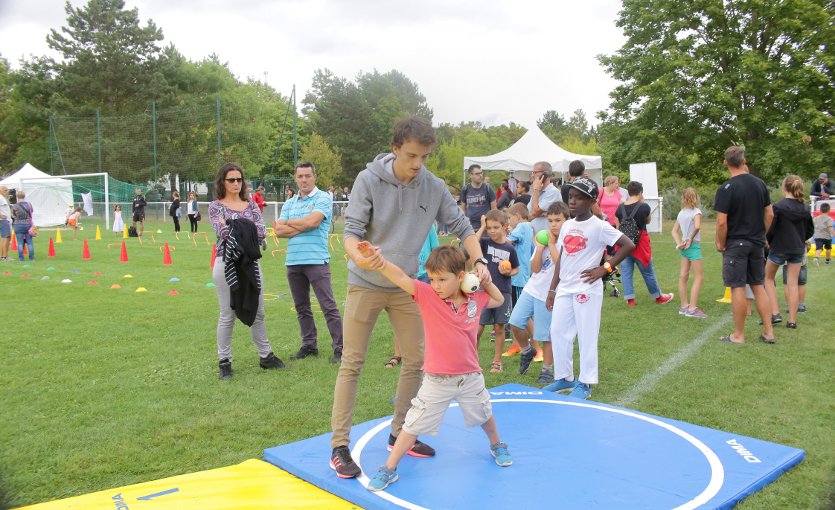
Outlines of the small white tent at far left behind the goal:
M32 204L33 219L39 227L63 225L73 204L72 181L41 172L29 163L0 181L0 185L26 193L24 200Z

